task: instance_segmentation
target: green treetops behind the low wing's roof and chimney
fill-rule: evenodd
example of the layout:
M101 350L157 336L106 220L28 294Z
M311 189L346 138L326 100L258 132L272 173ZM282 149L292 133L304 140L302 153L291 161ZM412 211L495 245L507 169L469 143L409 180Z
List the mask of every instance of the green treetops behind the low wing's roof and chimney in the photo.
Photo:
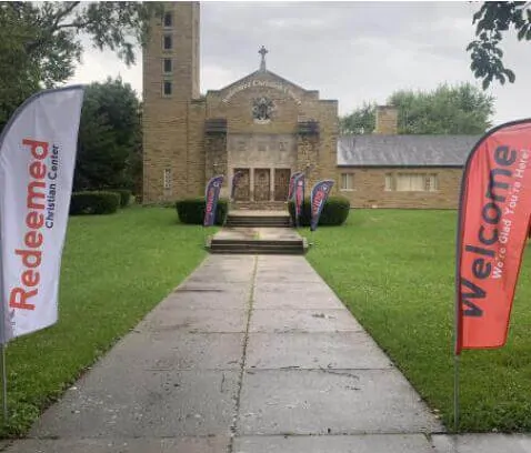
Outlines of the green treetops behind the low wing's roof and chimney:
M441 84L435 90L399 90L388 104L398 109L401 134L480 134L490 125L493 98L470 83ZM375 105L363 104L340 120L341 133L372 133Z

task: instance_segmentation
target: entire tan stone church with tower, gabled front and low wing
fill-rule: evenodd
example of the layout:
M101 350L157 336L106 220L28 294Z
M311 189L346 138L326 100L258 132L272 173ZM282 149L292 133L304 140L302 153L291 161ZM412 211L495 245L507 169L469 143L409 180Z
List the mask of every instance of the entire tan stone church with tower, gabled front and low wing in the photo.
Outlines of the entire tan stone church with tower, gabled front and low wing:
M320 99L258 69L200 93L199 2L167 2L143 52L143 202L204 194L224 174L234 208L284 209L290 175L321 179L359 208L455 208L459 180L477 137L397 135L397 111L381 107L372 135L340 137L338 101Z

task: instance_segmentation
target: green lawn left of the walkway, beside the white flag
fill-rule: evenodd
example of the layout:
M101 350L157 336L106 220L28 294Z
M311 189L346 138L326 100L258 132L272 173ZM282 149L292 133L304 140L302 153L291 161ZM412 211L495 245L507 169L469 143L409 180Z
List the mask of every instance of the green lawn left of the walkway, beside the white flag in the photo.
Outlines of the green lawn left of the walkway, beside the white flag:
M204 258L201 226L174 209L130 208L70 218L59 322L7 349L9 423L21 435L43 407L133 328Z

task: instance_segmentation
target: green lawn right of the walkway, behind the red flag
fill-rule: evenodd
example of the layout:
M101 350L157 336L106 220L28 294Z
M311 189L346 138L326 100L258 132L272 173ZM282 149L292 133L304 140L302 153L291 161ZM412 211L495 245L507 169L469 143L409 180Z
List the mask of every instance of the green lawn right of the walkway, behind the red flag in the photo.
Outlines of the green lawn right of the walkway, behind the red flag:
M308 259L453 429L457 212L353 210ZM304 231L308 234L308 230ZM507 346L461 355L461 431L531 430L531 246Z

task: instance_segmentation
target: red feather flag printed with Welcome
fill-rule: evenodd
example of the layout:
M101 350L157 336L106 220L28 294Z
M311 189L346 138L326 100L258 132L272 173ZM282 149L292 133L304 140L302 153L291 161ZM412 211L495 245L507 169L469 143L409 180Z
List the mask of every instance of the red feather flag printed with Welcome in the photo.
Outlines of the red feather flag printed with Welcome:
M531 215L531 120L502 124L473 148L461 184L455 354L505 344Z

